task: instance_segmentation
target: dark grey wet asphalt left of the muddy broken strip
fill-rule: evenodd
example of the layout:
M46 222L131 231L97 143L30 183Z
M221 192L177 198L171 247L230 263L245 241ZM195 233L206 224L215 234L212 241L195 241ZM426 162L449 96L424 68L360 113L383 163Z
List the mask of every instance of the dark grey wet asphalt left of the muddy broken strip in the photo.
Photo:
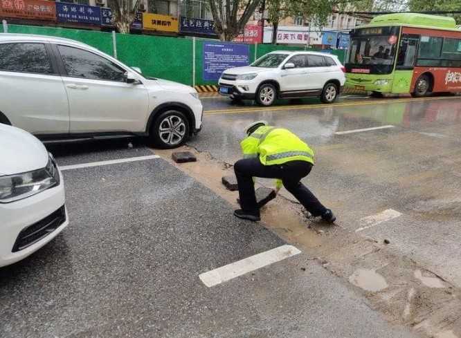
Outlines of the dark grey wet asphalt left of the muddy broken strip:
M152 154L138 141L50 150L61 166ZM2 338L413 337L307 253L207 288L202 272L284 243L162 159L63 173L69 227L0 269Z

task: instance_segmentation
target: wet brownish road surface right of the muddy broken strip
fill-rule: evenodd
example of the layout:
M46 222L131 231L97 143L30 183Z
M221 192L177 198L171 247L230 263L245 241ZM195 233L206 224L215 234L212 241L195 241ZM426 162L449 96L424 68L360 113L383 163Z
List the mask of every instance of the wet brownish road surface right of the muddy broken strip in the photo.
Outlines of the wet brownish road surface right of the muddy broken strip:
M291 129L316 152L303 181L341 226L354 232L361 218L394 209L399 218L361 235L388 239L397 252L461 285L461 97L345 97L333 105L311 100L269 109L204 102L204 131L190 145L233 163L246 124L267 120ZM386 125L393 127L336 134Z

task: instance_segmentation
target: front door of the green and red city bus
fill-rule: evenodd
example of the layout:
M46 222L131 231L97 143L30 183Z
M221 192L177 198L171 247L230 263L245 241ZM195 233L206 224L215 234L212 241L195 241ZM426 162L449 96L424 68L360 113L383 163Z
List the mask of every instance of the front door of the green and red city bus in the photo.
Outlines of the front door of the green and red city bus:
M392 81L392 93L410 93L413 68L415 66L418 50L418 41L419 35L401 35L394 80Z

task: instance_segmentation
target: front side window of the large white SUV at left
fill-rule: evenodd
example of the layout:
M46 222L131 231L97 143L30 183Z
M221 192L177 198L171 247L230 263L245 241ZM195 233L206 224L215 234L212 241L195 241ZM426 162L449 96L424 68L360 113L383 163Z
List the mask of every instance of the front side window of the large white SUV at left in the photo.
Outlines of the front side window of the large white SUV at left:
M125 81L125 70L105 57L69 46L57 46L67 75L84 79Z

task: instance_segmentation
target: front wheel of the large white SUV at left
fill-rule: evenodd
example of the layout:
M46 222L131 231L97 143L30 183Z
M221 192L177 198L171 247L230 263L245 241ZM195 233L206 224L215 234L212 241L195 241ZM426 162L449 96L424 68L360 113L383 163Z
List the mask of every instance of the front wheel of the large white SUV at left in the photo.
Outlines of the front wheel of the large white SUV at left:
M188 139L189 120L181 111L170 109L156 117L150 129L150 140L161 149L173 149Z

